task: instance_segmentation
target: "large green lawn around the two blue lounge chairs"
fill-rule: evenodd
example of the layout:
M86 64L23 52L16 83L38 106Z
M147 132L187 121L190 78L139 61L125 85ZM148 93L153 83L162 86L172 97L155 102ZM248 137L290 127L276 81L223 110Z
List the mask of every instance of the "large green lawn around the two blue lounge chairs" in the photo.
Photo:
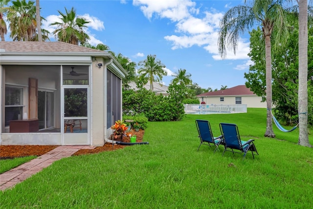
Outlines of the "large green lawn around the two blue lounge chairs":
M220 122L236 123L260 155L197 151L195 119L208 119L215 136ZM296 144L298 129L274 126L276 138L265 138L266 109L148 125L149 145L61 159L0 192L0 208L312 208L313 149Z

